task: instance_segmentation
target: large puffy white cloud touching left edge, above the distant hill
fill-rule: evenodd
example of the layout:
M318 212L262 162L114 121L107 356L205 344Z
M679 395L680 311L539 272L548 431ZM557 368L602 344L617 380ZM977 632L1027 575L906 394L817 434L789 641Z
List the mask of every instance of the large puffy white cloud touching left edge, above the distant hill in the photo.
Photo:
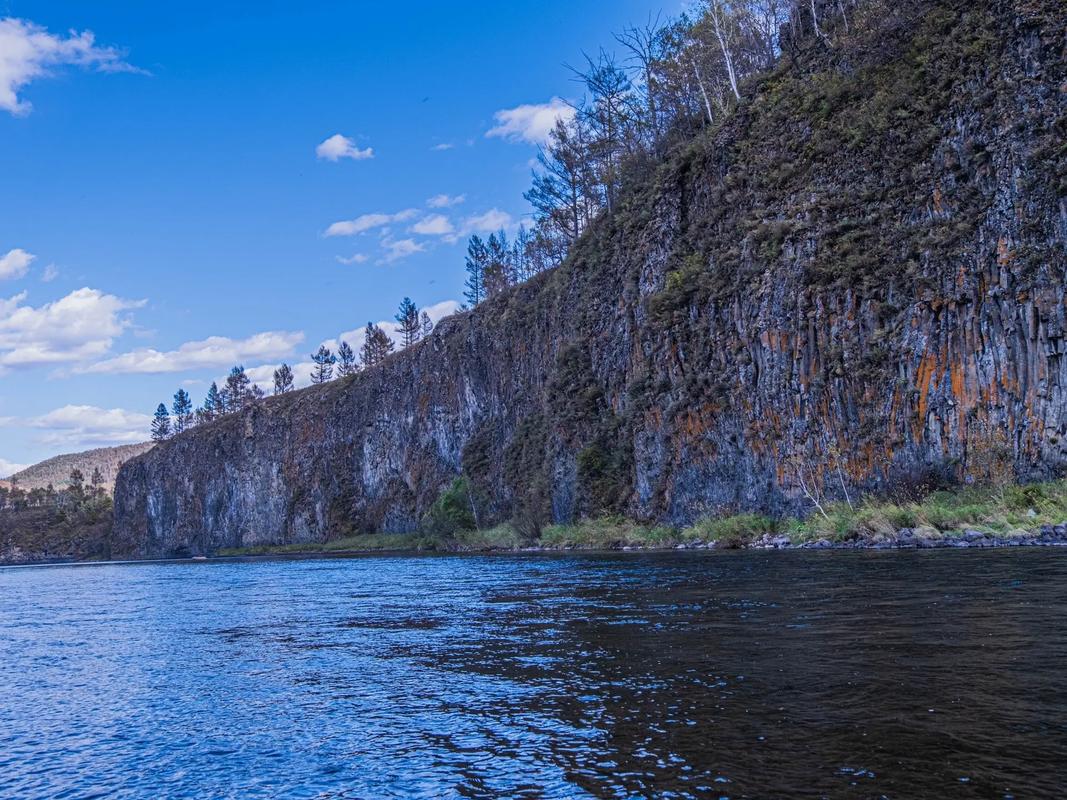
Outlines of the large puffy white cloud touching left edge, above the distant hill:
M26 298L0 299L0 372L97 358L129 327L122 313L144 305L87 287L38 308L25 305Z

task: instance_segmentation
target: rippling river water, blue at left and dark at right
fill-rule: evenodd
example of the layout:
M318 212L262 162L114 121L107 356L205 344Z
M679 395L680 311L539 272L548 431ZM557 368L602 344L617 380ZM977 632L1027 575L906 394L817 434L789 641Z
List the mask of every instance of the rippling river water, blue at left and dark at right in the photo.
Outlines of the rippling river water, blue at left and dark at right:
M0 570L4 798L1056 798L1067 551Z

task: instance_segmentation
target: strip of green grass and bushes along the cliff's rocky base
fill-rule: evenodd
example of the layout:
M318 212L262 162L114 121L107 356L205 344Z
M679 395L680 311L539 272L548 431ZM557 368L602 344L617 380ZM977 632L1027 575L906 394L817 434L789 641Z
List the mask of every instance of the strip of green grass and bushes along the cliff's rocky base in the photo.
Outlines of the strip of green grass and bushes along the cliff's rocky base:
M826 506L805 519L739 514L673 528L605 516L547 526L536 538L522 535L511 524L476 528L468 507L460 501L463 493L462 481L442 493L416 532L242 547L218 555L1067 546L1067 480L964 487L905 502L865 498L856 505Z

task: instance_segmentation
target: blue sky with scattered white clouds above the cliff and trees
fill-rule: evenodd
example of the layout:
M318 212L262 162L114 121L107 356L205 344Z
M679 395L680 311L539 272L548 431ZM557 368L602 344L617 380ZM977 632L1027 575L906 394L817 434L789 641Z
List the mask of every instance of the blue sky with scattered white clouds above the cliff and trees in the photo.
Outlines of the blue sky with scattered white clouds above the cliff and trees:
M0 475L452 309L564 64L680 6L0 0Z

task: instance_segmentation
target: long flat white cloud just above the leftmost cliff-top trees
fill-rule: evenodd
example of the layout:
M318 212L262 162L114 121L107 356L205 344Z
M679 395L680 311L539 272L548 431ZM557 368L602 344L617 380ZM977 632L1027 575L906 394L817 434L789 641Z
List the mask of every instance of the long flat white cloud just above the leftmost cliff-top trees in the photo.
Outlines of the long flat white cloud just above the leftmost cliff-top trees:
M244 362L282 358L291 353L303 340L304 334L286 331L268 331L245 339L211 336L201 341L187 341L177 350L159 351L152 348L133 350L114 358L90 364L78 371L105 374L159 374L230 367Z

